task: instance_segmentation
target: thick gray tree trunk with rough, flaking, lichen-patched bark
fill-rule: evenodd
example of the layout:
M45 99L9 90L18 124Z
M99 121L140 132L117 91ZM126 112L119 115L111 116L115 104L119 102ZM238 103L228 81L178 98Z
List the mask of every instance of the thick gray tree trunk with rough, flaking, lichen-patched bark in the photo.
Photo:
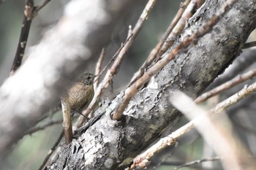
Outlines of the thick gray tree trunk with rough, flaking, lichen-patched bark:
M222 7L222 3L206 1L189 20L186 31L195 31ZM178 89L195 98L241 53L241 47L255 28L255 12L255 1L237 1L209 34L177 55L175 61L167 64L146 88L140 90L129 102L121 122L111 120L110 113L124 93L109 105L100 107L97 114L104 115L74 139L69 148L61 147L52 167L90 170L127 167L135 155L181 116L170 106L171 92Z

